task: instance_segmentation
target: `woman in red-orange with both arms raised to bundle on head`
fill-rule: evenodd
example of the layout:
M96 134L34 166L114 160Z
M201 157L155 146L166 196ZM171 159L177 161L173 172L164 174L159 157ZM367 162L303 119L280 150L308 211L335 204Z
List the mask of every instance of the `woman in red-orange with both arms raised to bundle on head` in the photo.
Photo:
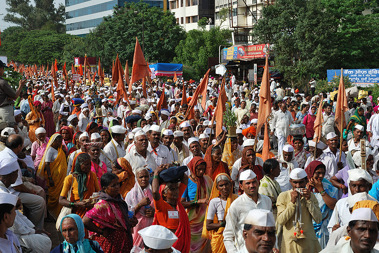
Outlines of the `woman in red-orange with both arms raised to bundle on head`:
M188 185L188 176L184 174L180 183L164 182L159 186L159 173L164 169L165 167L160 165L154 171L152 192L155 220L153 225L161 225L175 233L178 240L173 247L180 252L189 252L191 242L190 225L186 210L180 201L180 196L183 196Z

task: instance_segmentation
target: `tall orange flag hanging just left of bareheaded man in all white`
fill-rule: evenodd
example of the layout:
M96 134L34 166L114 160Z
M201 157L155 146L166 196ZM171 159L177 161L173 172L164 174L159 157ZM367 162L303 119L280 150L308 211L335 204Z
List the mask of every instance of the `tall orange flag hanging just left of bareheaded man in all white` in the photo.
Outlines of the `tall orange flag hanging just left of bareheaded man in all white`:
M258 111L258 124L257 124L257 136L263 124L267 121L268 116L271 113L271 94L270 94L270 73L268 72L268 55L266 54L266 65L264 67L261 91L259 92L259 111Z

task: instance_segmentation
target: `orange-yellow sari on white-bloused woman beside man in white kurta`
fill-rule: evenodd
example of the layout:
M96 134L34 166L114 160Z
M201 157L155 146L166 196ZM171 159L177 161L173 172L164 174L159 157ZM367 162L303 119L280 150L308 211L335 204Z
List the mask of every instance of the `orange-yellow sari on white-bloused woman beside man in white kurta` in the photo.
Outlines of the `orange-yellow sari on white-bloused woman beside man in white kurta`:
M230 192L229 192L228 200L226 201L226 206L225 206L225 214L224 214L224 221L225 221L225 217L226 217L226 214L228 213L228 209L230 207L230 204L238 196L233 194L233 186L232 186L233 181L230 179L230 177L225 173L220 173L215 178L215 183L213 184L213 188L212 188L212 192L211 192L211 196L209 198L209 201L211 201L211 199L213 199L213 198L218 198L220 195L220 192L217 189L216 181L217 181L217 178L221 175L226 176L230 181ZM225 245L224 245L224 236L222 235L225 228L221 227L218 230L211 230L211 231L206 230L206 217L207 216L208 216L208 206L206 207L205 220L204 220L204 224L203 224L203 228L202 228L201 237L211 239L212 253L226 253L226 249L225 249ZM219 222L217 219L217 215L215 215L213 222L214 223Z

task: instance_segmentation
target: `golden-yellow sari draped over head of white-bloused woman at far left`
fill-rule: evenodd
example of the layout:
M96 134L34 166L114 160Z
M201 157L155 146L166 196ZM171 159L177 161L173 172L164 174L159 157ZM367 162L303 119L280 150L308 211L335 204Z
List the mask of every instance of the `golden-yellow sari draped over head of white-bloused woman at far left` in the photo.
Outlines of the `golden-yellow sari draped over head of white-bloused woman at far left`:
M46 180L49 189L49 201L47 202L47 209L49 210L50 214L54 216L55 219L59 216L60 209L62 208L62 206L59 204L59 196L63 188L64 178L67 174L67 160L66 155L62 150L62 146L60 146L58 148L57 158L55 158L53 162L50 162L50 172L54 181L54 187L51 187L49 184L47 173L45 171L45 159L47 150L49 148L53 148L51 147L51 145L58 136L60 136L60 134L54 134L50 138L44 156L42 157L40 166L37 170L37 177Z

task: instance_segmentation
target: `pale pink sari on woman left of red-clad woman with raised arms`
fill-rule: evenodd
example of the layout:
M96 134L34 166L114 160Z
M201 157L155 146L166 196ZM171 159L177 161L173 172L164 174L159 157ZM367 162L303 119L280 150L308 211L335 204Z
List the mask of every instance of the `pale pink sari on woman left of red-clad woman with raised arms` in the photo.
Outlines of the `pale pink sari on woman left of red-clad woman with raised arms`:
M126 194L125 201L128 204L128 208L134 208L141 199L144 197L148 197L151 200L151 206L154 207L153 194L151 191L150 184L142 190L141 186L138 184L137 180L135 180L134 187ZM141 235L138 233L141 229L149 227L153 225L154 217L146 217L145 216L145 207L141 207L139 212L135 214L135 218L138 220L138 224L133 228L133 245L139 246L143 248L144 242L142 240Z

